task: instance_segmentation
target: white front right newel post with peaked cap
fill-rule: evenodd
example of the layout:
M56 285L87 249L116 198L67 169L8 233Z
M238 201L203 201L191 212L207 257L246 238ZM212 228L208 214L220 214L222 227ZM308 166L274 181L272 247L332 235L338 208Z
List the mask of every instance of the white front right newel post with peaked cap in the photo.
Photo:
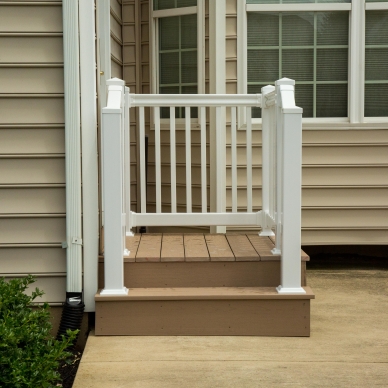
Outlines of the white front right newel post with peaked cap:
M280 294L305 294L301 287L302 112L295 106L295 81L276 82L282 120L282 262Z

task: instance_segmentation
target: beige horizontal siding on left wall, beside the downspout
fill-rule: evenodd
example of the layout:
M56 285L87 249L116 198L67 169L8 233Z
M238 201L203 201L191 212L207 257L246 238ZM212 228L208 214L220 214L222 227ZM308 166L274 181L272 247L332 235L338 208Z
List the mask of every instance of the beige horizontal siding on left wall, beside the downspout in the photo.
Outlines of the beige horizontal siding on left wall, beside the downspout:
M0 276L66 282L61 1L0 2ZM35 287L34 285L34 287Z

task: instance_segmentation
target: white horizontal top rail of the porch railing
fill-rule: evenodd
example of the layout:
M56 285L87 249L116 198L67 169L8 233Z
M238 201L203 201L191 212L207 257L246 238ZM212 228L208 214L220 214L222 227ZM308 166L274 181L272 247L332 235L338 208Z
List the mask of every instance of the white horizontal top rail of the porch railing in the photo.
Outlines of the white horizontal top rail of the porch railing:
M130 94L131 107L261 107L261 94Z

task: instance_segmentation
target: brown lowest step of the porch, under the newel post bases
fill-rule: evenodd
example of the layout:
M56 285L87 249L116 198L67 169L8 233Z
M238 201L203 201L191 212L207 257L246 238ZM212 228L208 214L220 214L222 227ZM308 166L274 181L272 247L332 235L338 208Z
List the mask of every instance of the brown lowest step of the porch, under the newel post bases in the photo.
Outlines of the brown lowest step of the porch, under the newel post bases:
M96 295L96 335L309 336L310 299L274 287L133 288Z

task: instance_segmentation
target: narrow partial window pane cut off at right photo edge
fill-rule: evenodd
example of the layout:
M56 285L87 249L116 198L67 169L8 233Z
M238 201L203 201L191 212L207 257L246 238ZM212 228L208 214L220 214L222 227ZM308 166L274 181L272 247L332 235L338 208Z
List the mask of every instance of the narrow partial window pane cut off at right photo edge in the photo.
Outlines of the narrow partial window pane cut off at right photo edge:
M366 11L365 117L388 116L388 11Z

